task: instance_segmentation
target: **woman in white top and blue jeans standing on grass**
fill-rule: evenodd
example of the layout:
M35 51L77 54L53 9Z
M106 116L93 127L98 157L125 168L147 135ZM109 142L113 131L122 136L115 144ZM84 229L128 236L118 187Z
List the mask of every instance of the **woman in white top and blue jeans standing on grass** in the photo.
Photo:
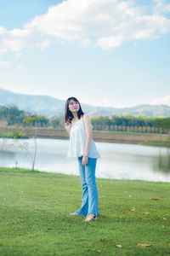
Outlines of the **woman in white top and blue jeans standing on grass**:
M92 138L92 128L90 118L82 112L77 98L68 98L65 102L65 129L70 134L67 158L77 158L83 190L82 207L69 214L86 216L84 221L96 220L99 216L95 168L100 154Z

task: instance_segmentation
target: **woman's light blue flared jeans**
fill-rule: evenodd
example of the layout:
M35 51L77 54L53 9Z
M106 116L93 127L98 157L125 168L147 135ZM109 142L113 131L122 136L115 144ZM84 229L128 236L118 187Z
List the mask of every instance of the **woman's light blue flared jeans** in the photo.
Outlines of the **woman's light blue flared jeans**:
M98 189L95 181L97 158L88 157L88 165L82 166L82 156L78 157L78 166L82 183L82 207L76 212L87 216L88 213L99 215Z

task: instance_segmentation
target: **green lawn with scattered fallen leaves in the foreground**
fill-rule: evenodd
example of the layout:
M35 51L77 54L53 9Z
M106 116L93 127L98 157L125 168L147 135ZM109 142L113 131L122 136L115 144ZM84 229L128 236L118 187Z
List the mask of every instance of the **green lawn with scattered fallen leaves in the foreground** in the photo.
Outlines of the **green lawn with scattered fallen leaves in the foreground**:
M0 184L1 256L170 253L170 183L97 178L90 223L68 214L81 206L80 177L0 168Z

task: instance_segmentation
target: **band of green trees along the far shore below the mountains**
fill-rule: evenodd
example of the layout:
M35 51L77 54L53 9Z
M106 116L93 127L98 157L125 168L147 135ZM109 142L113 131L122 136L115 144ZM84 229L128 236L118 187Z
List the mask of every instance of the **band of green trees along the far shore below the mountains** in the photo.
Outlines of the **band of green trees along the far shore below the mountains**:
M37 118L38 117L38 118ZM0 106L0 125L26 125L24 119L31 118L32 126L65 129L64 114L46 117L20 110L14 105ZM168 133L170 117L145 117L133 115L99 115L91 117L97 131L135 131L149 133Z

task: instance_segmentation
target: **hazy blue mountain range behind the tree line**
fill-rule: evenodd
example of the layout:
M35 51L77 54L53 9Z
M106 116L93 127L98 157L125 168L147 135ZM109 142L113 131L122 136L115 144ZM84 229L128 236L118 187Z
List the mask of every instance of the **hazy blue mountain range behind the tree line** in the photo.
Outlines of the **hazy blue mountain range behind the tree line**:
M34 113L52 116L54 114L65 113L65 101L51 96L36 96L14 93L10 90L0 89L0 105L7 106L14 104L20 109L28 110ZM95 107L83 104L82 109L90 116L110 115L110 114L131 114L134 116L145 115L151 116L170 116L170 107L167 105L138 105L132 108L111 108Z

